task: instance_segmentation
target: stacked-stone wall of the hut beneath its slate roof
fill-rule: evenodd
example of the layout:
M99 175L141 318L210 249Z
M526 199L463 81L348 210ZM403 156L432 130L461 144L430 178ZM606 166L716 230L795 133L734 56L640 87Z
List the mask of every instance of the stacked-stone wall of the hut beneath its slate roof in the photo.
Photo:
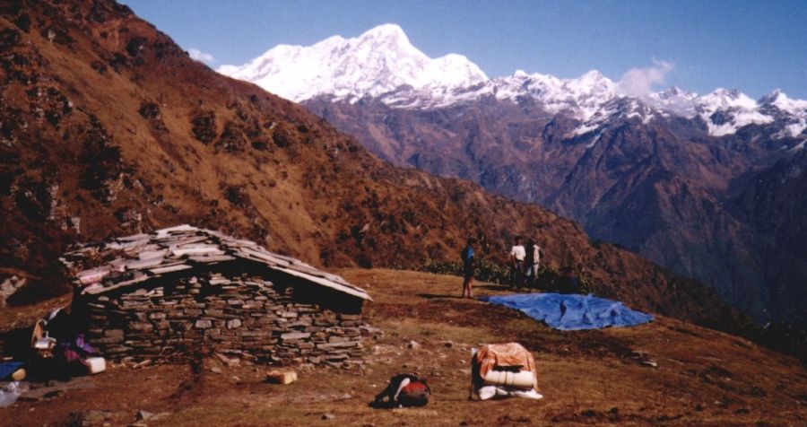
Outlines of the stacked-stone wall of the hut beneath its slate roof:
M214 351L282 364L362 363L361 315L300 302L292 287L221 274L138 285L82 297L88 339L109 359Z

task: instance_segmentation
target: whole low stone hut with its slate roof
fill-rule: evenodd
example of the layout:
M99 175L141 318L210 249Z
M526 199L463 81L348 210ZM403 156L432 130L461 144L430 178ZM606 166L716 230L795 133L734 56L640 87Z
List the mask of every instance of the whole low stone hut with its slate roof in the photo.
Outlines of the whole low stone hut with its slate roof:
M90 343L120 360L205 351L361 364L367 292L250 240L180 225L65 254Z

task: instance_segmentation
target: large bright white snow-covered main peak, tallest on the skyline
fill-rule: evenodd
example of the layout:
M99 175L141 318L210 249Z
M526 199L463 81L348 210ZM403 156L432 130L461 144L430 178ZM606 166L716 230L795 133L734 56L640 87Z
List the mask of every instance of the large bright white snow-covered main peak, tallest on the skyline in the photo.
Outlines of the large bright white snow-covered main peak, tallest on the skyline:
M309 47L280 45L245 65L222 65L218 71L295 101L318 95L354 101L404 86L450 92L488 80L461 55L427 57L391 23L352 39L334 36Z

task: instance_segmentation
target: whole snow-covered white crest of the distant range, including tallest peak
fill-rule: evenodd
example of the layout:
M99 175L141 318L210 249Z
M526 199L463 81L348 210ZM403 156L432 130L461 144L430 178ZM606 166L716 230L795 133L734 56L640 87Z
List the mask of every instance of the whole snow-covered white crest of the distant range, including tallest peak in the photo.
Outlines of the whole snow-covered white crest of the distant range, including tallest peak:
M703 120L714 136L773 124L780 127L776 137L807 139L807 100L792 100L778 90L760 100L738 91L717 89L699 96L676 87L636 97L620 92L619 83L598 71L560 79L518 70L489 79L461 55L427 57L395 24L352 39L334 36L310 47L279 45L245 65L222 65L218 71L298 102L329 96L352 103L371 97L393 108L438 109L483 97L514 102L532 98L551 114L577 118L575 135L616 119L649 123L680 116Z

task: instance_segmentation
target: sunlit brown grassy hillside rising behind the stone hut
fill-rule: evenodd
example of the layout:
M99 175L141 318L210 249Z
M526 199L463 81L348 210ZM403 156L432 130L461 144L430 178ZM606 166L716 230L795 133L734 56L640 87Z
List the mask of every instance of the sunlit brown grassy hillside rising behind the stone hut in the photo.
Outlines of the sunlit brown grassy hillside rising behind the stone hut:
M468 235L500 258L530 234L551 264L585 264L600 294L733 321L699 283L595 248L575 222L379 161L298 105L191 60L126 6L4 2L0 57L0 266L47 279L74 239L178 222L325 266L455 259Z

